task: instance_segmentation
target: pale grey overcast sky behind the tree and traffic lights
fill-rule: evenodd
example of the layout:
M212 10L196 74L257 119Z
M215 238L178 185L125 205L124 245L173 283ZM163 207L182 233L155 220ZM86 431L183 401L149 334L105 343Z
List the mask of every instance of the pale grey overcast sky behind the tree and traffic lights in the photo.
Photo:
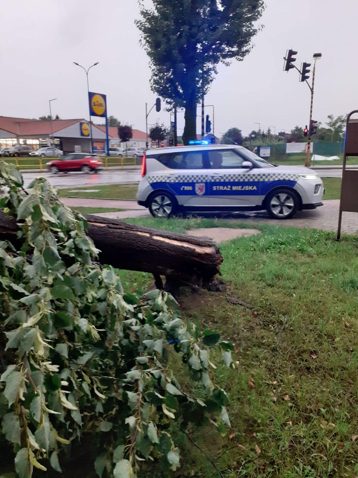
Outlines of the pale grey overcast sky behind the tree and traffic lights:
M107 95L109 115L145 130L145 103L156 96L138 44L138 17L137 0L1 0L0 115L38 118L58 98L54 115L87 118L86 78L73 62L99 62L90 71L90 90ZM324 124L330 113L358 108L357 19L358 0L266 0L252 52L219 65L205 98L215 105L216 136L234 126L247 134L258 128L254 121L276 132L308 122L308 87L298 72L282 71L287 48L298 51L298 66L315 52L323 55L316 65L315 120ZM169 113L153 109L148 122L157 119L169 126Z

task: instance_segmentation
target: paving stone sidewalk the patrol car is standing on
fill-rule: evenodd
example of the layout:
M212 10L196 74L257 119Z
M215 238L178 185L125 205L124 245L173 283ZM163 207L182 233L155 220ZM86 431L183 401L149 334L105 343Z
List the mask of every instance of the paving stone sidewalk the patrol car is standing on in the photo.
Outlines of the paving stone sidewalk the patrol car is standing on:
M97 214L98 216L110 217L113 219L126 219L129 217L149 217L150 214L145 207L139 206L136 201L122 201L118 199L89 199L79 197L63 198L67 206L78 207L117 207L127 209L126 211L107 212ZM323 202L324 206L313 210L298 211L292 219L279 221L270 218L265 211L222 214L225 219L240 219L248 222L265 222L276 226L293 226L296 228L316 228L326 231L337 231L339 200L330 199ZM358 213L344 212L342 216L342 232L352 235L358 234Z

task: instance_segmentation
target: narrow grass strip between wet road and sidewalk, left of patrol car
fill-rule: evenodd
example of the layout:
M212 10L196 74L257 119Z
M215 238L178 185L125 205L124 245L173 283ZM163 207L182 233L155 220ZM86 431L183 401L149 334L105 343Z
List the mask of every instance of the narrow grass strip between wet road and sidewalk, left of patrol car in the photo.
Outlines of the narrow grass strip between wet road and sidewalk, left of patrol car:
M80 193L71 193L73 189L83 190ZM98 189L98 193L86 193L86 189ZM105 199L136 199L137 184L130 185L107 185L107 186L86 186L84 188L70 187L67 189L59 189L58 194L62 197L102 197Z

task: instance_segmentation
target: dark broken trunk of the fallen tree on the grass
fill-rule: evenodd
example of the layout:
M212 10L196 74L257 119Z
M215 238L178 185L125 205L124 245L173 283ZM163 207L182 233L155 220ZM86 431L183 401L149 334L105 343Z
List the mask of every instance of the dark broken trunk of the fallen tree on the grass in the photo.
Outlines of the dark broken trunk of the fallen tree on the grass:
M220 274L221 253L208 238L145 228L94 215L84 215L88 236L101 250L99 261L117 269L143 271L168 282L209 283ZM15 219L0 211L0 240L14 241Z

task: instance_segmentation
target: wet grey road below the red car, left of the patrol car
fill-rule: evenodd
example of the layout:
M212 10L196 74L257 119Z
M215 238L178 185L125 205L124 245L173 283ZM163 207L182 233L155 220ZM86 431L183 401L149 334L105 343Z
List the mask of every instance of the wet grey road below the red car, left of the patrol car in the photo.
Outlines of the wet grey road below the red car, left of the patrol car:
M44 177L53 185L61 188L66 187L84 187L84 186L104 186L111 184L137 183L140 181L140 170L133 171L101 171L96 174L68 173L22 173L25 187L27 187L35 177Z

